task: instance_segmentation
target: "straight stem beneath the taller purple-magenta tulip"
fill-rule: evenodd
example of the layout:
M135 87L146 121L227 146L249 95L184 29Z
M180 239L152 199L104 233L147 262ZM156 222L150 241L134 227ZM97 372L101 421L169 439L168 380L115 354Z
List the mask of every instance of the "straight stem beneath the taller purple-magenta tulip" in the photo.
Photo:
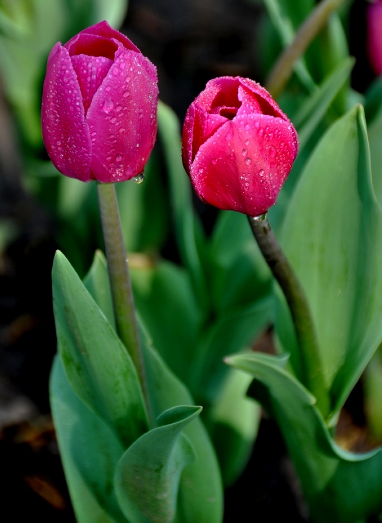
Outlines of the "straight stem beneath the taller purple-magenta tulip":
M133 360L149 416L146 373L117 195L114 184L97 184L97 192L117 333Z

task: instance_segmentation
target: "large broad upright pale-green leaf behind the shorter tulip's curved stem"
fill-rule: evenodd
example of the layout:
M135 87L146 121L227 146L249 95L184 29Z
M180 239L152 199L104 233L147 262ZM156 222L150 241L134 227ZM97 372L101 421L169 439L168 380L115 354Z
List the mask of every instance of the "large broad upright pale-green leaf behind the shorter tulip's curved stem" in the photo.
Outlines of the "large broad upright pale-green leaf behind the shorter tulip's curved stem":
M333 414L382 340L382 215L369 164L363 109L357 106L333 124L311 155L281 237L307 294ZM300 377L285 304L276 332Z

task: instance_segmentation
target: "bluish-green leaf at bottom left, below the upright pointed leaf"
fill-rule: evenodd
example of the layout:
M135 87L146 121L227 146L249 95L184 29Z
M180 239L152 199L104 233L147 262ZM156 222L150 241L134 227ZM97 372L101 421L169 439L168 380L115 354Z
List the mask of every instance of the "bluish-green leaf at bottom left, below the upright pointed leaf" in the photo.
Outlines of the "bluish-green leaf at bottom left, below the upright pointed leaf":
M73 392L56 356L50 401L67 485L78 523L123 523L113 488L124 448L113 431Z

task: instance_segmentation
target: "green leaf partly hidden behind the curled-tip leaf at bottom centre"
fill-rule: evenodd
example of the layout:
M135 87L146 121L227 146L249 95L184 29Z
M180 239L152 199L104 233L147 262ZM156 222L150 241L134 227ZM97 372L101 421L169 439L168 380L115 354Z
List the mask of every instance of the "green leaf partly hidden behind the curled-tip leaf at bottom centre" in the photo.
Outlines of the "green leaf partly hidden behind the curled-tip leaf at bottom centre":
M172 374L147 344L145 368L151 414L155 419L165 410L194 402L186 387ZM180 349L181 350L181 347ZM177 523L221 523L222 482L214 448L199 418L183 429L195 453L195 461L183 469L179 487Z

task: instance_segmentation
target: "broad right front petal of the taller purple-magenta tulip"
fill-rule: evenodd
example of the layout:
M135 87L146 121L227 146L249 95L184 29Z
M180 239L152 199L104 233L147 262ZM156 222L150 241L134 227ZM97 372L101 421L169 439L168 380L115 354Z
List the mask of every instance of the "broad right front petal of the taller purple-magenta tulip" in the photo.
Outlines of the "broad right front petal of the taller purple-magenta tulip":
M157 98L155 66L120 45L86 115L92 178L108 183L143 172L156 137Z

